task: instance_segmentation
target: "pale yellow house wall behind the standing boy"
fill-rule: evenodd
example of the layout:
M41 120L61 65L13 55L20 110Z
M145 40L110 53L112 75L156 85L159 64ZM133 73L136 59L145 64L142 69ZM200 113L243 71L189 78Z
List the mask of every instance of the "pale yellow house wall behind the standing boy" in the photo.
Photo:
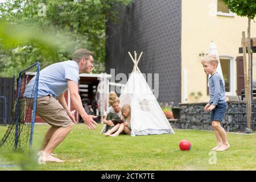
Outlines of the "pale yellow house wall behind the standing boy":
M233 95L237 95L236 57L242 56L238 53L238 47L241 47L242 31L246 31L247 36L247 18L241 18L236 14L234 17L216 15L217 0L182 0L181 11L181 102L209 100L207 77L200 63L202 57L199 54L209 53L211 41L216 44L218 55L234 57L235 92ZM251 21L251 37L256 38L256 23L253 21ZM184 73L185 69L187 69L187 76ZM187 84L185 84L185 78L187 78ZM255 66L253 78L256 78ZM199 100L189 96L191 92L199 91L203 94Z

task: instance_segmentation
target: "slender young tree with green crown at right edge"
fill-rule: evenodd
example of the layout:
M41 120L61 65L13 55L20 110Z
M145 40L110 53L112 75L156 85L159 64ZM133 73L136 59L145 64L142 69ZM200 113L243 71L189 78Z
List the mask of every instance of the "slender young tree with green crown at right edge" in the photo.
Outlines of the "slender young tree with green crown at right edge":
M228 8L238 16L246 16L248 18L247 27L247 48L248 48L248 75L245 75L245 96L246 96L246 115L247 115L247 127L251 129L250 117L251 117L251 20L256 15L256 1L255 0L224 0ZM243 41L244 42L244 41ZM245 51L245 50L244 50ZM244 65L247 64L246 56L243 56Z

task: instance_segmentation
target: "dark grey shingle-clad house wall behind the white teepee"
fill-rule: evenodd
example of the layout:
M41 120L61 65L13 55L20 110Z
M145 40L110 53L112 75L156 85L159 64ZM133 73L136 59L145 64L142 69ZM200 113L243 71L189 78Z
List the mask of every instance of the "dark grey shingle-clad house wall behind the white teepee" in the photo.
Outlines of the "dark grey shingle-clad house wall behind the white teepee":
M128 75L128 51L143 51L142 73L159 73L159 102L181 101L181 1L135 0L118 10L118 22L106 30L106 72ZM118 81L117 81L118 82ZM154 88L154 85L152 86Z

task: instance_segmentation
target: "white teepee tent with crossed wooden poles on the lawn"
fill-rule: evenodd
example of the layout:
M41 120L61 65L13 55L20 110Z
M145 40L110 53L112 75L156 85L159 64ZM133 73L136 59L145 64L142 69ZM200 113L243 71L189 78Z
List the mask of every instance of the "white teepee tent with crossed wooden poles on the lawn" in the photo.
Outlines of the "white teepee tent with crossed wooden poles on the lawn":
M137 60L136 52L134 51L134 58L129 52L131 60L134 62L134 68L119 97L121 106L125 104L131 106L131 136L174 134L170 123L138 68L142 53Z

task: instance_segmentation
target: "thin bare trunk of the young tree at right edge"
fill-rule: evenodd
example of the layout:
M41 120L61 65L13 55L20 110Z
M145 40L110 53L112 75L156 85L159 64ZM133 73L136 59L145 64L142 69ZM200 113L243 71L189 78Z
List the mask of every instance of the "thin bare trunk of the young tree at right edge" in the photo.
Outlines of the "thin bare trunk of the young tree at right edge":
M251 85L251 16L248 16L248 30L247 30L247 35L248 35L248 101L249 101L249 108L248 108L248 115L247 115L247 127L249 129L251 129L251 100L253 98L251 98L251 87L253 85Z

